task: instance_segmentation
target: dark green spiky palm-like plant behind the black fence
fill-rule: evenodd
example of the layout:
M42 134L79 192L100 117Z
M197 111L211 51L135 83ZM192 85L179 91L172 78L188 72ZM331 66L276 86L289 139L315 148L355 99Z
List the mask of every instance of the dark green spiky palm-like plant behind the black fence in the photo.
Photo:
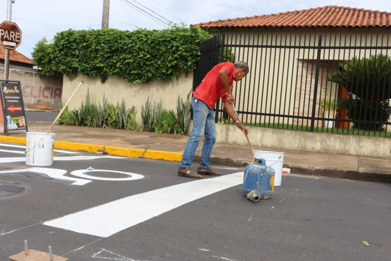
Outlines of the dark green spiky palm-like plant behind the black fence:
M383 54L353 57L340 67L342 70L329 78L349 92L348 99L341 99L339 106L348 111L354 127L381 130L391 115L391 58Z

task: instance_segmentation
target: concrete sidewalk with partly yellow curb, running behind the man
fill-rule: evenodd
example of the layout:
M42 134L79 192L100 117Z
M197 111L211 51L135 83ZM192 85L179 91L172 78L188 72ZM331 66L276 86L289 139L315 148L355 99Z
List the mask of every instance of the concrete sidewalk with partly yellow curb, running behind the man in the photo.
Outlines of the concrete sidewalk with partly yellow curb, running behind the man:
M51 122L30 122L28 130L46 133L50 125ZM185 135L63 125L54 125L50 133L55 134L55 148L178 161L178 166L188 139ZM25 144L26 132L10 131L8 136L2 134L0 142ZM202 142L195 154L194 168L199 162L201 147ZM291 173L391 183L391 160L387 158L280 151L260 147L254 149L283 152L283 167L290 168ZM244 167L251 164L253 158L249 146L215 144L211 164Z

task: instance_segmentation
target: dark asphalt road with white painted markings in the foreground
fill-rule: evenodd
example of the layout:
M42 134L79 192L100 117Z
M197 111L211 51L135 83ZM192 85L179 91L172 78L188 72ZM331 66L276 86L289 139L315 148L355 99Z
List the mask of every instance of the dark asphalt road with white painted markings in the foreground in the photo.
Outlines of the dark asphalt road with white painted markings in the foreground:
M390 260L390 184L287 174L254 203L241 195L242 168L195 180L176 162L65 151L27 166L23 146L7 145L1 261L24 240L74 261Z

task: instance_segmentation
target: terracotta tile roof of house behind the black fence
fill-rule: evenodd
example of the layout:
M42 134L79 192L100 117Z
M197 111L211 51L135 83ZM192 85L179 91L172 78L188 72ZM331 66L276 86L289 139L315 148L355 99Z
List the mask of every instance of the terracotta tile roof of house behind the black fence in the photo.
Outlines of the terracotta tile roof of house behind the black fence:
M327 5L278 14L217 20L192 24L202 28L221 27L390 27L391 13Z

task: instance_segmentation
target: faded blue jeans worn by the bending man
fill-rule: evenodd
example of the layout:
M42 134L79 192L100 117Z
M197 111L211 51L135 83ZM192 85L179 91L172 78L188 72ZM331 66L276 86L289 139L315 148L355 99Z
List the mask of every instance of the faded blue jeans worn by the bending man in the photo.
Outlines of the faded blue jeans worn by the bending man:
M213 145L215 145L217 139L215 113L213 112L213 109L210 109L203 101L196 99L194 96L192 98L192 108L193 130L186 143L180 167L192 166L199 140L201 140L202 136L205 134L199 166L202 168L209 168Z

